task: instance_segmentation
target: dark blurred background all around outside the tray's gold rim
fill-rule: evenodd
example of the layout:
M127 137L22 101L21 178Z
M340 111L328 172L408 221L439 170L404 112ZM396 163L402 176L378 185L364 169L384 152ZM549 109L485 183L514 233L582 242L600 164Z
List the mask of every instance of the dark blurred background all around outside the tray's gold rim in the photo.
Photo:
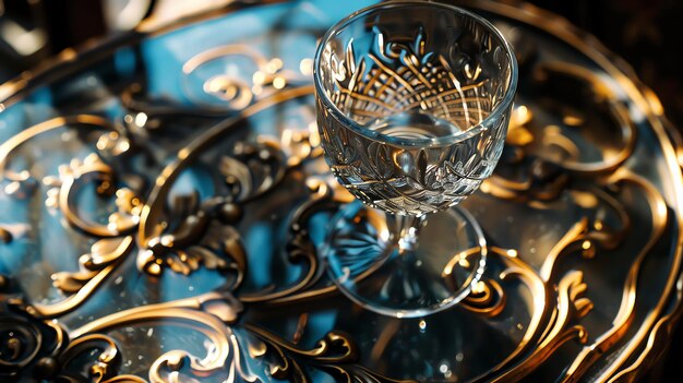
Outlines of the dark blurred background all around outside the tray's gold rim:
M130 0L135 1L135 0ZM170 0L169 0L170 1ZM191 1L191 0L183 0ZM337 1L337 0L331 0ZM515 0L504 0L517 3ZM142 0L144 19L159 1ZM530 0L590 32L623 57L660 97L667 116L683 130L683 1L681 0ZM0 0L0 82L69 47L120 33L106 8L125 0ZM11 27L8 27L10 25ZM17 28L19 27L19 28ZM34 37L35 49L19 52L17 36ZM36 43L38 41L38 43ZM645 382L683 382L683 331L671 339Z

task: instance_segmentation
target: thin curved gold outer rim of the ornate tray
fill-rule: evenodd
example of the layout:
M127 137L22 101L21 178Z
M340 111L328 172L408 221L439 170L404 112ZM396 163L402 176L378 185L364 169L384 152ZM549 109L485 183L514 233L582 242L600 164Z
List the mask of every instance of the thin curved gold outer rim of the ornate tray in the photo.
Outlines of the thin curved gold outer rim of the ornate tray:
M38 67L24 71L14 79L0 84L0 113L8 107L22 100L33 89L75 73L82 68L88 67L93 62L110 55L112 50L118 48L134 46L146 37L160 36L232 12L286 2L288 0L238 0L217 8L190 13L172 21L160 21L152 15L143 20L135 28L123 34L95 38L75 48L67 48L55 57L45 60ZM683 173L681 172L683 167L683 139L673 123L667 119L659 97L649 86L640 81L635 70L625 60L613 53L592 34L578 28L565 17L529 3L513 7L492 0L445 0L444 2L492 12L531 25L576 48L608 72L626 91L628 98L636 103L645 113L648 124L656 134L659 145L661 145L662 155L668 166L668 175L674 177L672 180L674 201L668 202L672 203L671 207L674 213L683 212ZM675 220L678 223L679 243L674 251L674 256L679 262L678 273L672 272L670 274L674 278L672 279L671 288L667 291L668 304L662 307L661 315L657 316L657 321L652 322L651 328L643 337L636 351L626 359L627 363L637 356L635 361L631 366L616 370L610 376L610 381L632 367L635 367L638 372L649 370L670 346L667 342L657 340L670 335L683 314L683 266L681 265L683 253L683 214L675 214ZM645 348L643 345L645 345ZM638 350L640 351L639 354Z

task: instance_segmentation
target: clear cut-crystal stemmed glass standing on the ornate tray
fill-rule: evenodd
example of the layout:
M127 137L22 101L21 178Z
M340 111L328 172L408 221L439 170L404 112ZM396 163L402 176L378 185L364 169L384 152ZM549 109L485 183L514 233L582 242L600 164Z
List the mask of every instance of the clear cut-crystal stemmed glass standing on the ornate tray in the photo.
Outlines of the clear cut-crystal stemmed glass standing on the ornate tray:
M357 199L329 226L332 279L387 315L456 304L487 253L477 222L456 205L501 156L517 82L512 48L471 12L392 1L333 26L314 79L325 159Z

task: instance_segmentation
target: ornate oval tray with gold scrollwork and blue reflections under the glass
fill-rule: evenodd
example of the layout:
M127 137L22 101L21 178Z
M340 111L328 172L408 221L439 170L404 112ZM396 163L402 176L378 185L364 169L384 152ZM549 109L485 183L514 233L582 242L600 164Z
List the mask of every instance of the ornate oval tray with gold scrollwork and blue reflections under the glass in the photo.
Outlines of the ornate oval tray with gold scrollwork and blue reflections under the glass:
M394 320L326 279L350 196L320 158L311 57L370 2L152 20L0 86L1 381L640 376L681 313L681 146L626 65L529 7L455 2L522 65L503 159L465 202L484 280Z

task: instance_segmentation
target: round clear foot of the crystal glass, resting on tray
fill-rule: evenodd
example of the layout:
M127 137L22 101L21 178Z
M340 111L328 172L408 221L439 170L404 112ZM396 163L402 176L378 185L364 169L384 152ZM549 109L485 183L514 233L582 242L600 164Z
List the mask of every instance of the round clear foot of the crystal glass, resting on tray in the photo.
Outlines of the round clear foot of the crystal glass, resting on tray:
M475 218L460 207L430 214L408 248L399 244L398 219L358 201L333 218L323 254L339 290L396 318L429 315L467 297L487 254Z

